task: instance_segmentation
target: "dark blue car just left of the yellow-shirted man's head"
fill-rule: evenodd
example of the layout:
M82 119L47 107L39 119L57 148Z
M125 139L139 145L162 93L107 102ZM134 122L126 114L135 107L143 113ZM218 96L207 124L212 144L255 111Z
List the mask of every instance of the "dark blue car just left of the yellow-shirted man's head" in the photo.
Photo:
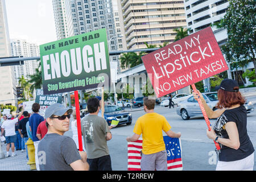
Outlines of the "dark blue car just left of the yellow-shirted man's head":
M112 120L119 121L118 125L131 125L131 121L133 120L131 113L116 105L105 105L104 108L104 118L108 122L109 126L111 125Z

